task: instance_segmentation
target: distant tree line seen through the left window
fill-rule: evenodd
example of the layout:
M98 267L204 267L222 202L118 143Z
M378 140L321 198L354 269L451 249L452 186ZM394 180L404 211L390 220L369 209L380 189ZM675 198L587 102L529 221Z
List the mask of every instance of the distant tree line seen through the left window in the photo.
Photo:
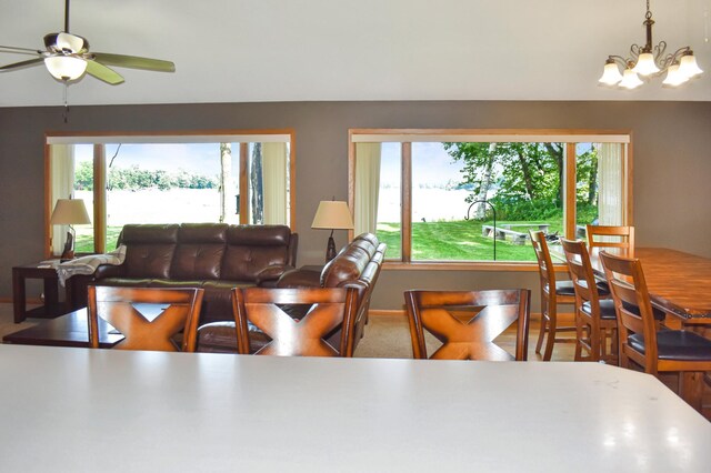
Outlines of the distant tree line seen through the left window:
M202 174L193 174L184 170L169 173L164 170L140 169L138 165L130 168L111 168L107 175L108 190L138 191L144 189L217 189L218 180ZM83 191L93 190L93 165L89 161L82 161L74 170L74 189Z

